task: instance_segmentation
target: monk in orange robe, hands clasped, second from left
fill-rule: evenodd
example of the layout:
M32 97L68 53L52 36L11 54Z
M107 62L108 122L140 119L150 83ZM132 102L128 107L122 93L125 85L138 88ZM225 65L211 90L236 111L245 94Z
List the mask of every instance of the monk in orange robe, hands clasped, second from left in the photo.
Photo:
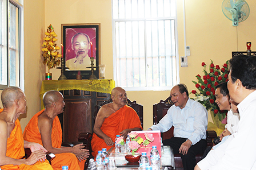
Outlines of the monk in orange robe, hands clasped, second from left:
M83 169L89 150L83 149L83 144L61 146L62 129L57 115L63 113L65 106L62 94L55 90L46 92L43 94L43 104L45 109L35 114L27 124L23 132L24 139L42 144L55 154L55 159L51 161L53 169L61 169L63 165L68 165L69 170Z

